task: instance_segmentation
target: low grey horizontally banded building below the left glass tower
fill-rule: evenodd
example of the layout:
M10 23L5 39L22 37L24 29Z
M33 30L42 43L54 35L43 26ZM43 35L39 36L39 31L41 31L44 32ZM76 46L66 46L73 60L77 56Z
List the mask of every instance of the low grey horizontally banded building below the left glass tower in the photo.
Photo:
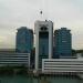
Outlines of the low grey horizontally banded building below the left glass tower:
M0 66L30 68L30 53L0 53Z

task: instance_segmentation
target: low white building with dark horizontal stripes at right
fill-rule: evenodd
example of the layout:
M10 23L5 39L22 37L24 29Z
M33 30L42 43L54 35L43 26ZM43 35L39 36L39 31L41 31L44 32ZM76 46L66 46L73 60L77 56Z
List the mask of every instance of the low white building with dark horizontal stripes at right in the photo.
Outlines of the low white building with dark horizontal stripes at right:
M45 74L83 73L83 58L43 59L42 73Z

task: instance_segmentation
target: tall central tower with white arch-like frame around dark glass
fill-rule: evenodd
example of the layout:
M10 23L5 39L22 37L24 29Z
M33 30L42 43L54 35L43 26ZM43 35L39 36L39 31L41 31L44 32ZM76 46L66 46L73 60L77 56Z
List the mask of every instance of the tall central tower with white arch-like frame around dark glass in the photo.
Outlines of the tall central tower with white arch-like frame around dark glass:
M35 70L42 68L42 59L51 59L53 49L53 22L35 21Z

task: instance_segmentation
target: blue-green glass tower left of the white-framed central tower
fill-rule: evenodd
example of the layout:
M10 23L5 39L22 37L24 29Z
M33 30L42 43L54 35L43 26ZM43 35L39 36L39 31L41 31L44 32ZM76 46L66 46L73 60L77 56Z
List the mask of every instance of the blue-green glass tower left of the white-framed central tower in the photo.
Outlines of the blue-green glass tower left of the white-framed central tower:
M31 53L33 49L33 31L21 27L17 32L17 52Z

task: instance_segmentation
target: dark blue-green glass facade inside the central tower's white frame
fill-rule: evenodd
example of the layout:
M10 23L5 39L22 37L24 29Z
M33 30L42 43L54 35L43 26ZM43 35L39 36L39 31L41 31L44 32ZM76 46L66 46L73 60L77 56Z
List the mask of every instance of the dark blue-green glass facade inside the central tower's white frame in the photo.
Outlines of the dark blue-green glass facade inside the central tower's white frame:
M39 68L42 66L42 59L49 58L49 32L39 32Z

